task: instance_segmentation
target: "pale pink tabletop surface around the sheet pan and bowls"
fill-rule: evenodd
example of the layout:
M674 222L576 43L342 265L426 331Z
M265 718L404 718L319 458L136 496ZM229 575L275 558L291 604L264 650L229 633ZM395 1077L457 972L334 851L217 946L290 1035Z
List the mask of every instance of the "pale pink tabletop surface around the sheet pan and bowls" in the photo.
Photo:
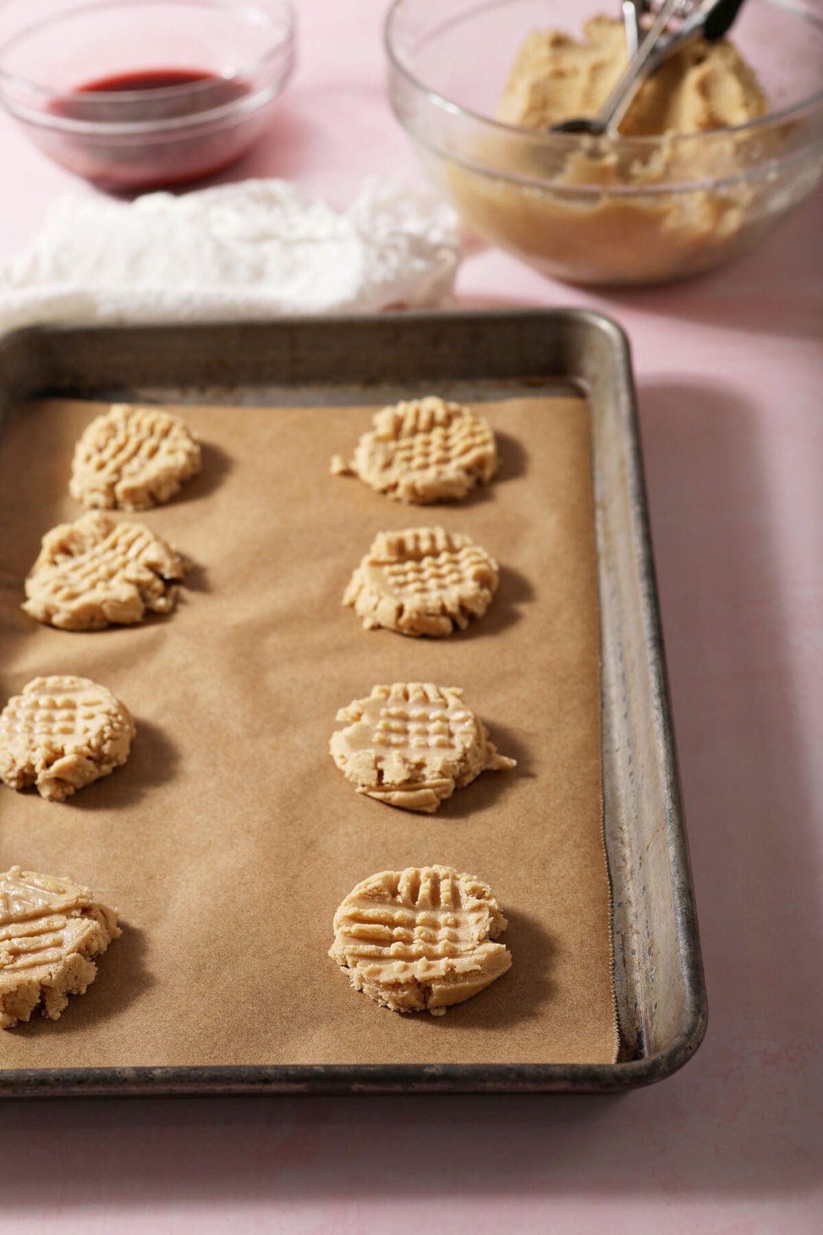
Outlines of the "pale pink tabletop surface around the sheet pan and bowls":
M237 177L343 201L411 169L383 9L300 4L301 67ZM0 159L5 256L79 186L5 119ZM495 253L459 280L464 305L592 305L633 342L709 992L695 1060L605 1099L5 1104L0 1230L821 1229L822 221L818 196L668 290L589 295Z

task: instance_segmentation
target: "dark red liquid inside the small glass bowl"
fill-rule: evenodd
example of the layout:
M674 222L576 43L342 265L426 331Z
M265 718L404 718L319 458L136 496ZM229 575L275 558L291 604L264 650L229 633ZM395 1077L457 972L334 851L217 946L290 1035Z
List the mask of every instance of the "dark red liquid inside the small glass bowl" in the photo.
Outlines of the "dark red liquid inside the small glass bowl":
M41 140L63 167L104 189L139 193L188 184L233 163L258 136L259 114L195 124L199 114L248 93L246 82L199 69L146 69L100 78L54 100L52 114L101 125L158 121L162 127L155 133L52 131L46 136L41 131ZM175 120L179 127L172 124Z

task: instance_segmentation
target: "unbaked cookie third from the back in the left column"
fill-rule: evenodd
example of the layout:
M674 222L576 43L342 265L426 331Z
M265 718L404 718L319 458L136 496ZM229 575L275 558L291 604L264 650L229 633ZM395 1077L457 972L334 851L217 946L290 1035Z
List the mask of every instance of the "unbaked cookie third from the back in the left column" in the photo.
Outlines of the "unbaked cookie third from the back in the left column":
M133 736L127 708L105 687L35 678L0 713L0 781L64 802L125 763Z

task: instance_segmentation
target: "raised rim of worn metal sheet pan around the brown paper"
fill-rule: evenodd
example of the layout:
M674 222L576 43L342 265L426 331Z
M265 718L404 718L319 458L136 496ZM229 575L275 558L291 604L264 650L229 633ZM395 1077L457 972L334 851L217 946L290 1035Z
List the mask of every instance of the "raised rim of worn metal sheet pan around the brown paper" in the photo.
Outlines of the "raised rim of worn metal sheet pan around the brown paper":
M611 1092L681 1067L706 1029L628 342L589 311L39 329L0 341L0 425L39 395L308 405L584 389L601 605L605 836L621 1030L611 1065L0 1070L0 1095Z

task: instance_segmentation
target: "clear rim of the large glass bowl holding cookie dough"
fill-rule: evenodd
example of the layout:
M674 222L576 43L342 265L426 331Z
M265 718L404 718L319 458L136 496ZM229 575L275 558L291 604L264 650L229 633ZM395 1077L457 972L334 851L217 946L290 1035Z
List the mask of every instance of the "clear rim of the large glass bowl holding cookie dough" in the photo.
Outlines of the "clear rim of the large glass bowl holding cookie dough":
M492 0L492 4L482 4L479 7L489 9L498 6L503 0ZM823 35L823 16L818 17L816 14L809 12L807 9L802 7L796 0L761 0L771 9L784 10L784 12L790 12L792 16L798 17L801 21L809 22L812 26L819 28ZM550 130L529 128L526 125L510 125L503 120L496 120L494 116L486 116L481 111L474 111L471 107L464 107L459 103L454 103L452 99L447 99L445 95L439 94L427 85L422 78L418 78L402 61L400 52L395 44L395 25L399 15L403 9L408 7L408 0L392 0L386 14L383 37L384 48L389 62L401 77L403 77L410 85L416 90L426 95L429 103L433 103L436 107L442 111L448 111L454 116L463 116L466 120L471 120L475 124L482 125L490 131L508 133L515 137L528 137L529 141L542 142L547 147L554 146L555 148L576 149L580 147L581 138L579 133L554 133ZM470 12L470 10L466 10ZM658 149L665 142L666 147L672 144L680 144L684 142L697 142L707 138L739 136L743 133L754 133L759 130L764 130L770 125L782 124L787 120L796 120L804 112L813 111L816 107L823 110L823 89L816 90L807 98L801 99L798 103L793 103L787 107L781 107L777 111L770 111L765 116L759 116L756 120L748 120L743 125L726 125L719 128L706 128L696 133L661 133L653 136L642 137L624 137L619 133L608 135L608 140L613 142L616 147L622 146L623 148L638 149Z

